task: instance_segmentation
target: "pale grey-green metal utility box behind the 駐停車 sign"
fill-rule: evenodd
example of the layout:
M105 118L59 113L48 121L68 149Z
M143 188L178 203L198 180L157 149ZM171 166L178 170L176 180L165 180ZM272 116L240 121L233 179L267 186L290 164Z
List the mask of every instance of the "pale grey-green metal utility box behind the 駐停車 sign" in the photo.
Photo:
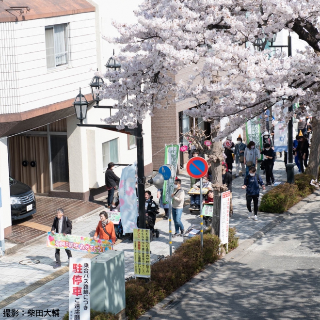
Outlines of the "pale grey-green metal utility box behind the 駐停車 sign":
M91 260L90 306L120 313L126 308L125 253L108 250Z

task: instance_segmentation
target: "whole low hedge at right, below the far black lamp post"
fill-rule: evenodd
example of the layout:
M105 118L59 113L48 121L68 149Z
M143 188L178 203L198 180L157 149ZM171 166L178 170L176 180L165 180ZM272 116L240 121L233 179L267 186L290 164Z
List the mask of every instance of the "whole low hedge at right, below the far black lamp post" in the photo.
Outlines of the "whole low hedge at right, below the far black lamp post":
M283 213L316 190L310 184L311 179L313 179L312 176L298 174L294 178L294 184L285 183L265 193L261 198L259 211Z

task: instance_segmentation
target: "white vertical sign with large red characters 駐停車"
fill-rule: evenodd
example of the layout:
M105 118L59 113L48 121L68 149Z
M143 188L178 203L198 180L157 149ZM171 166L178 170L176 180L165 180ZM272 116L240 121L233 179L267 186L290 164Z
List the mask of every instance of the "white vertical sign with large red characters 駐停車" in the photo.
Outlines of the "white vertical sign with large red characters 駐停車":
M90 320L91 259L69 262L69 320Z

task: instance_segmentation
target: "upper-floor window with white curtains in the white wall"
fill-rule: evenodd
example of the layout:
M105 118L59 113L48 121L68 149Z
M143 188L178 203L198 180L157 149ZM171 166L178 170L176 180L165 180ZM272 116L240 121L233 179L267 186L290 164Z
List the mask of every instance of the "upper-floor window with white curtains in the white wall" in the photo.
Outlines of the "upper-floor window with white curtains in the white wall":
M67 24L46 27L47 68L68 64Z

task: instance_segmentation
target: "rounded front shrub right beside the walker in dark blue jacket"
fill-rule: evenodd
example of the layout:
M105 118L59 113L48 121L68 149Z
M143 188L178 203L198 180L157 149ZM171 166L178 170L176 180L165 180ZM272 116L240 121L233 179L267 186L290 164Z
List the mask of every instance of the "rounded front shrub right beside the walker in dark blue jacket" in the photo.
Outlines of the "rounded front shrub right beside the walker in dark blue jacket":
M300 201L299 189L296 184L285 183L272 188L264 194L259 211L283 213Z

